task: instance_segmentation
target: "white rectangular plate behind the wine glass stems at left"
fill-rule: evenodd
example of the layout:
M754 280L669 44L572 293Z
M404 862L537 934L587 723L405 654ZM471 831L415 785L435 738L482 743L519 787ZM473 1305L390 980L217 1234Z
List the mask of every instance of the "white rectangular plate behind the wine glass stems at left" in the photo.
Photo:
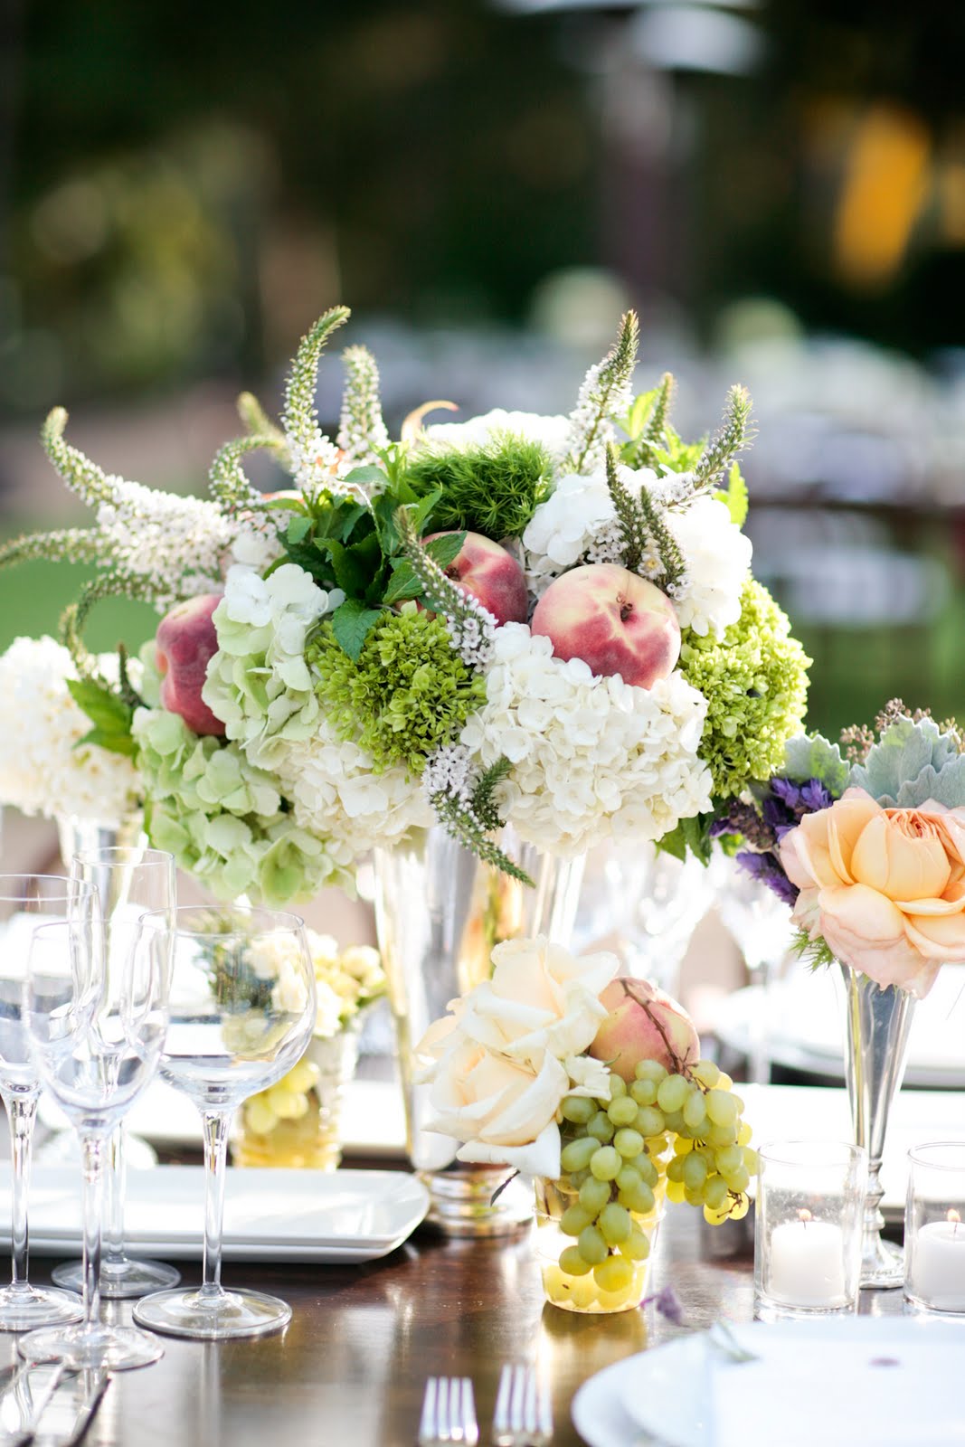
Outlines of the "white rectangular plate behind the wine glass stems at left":
M404 1171L231 1169L224 1191L224 1256L236 1260L363 1262L415 1230L428 1192ZM10 1217L10 1171L0 1171L0 1220ZM204 1169L127 1172L124 1239L142 1255L201 1256ZM30 1246L72 1255L81 1244L80 1174L38 1168L30 1181Z

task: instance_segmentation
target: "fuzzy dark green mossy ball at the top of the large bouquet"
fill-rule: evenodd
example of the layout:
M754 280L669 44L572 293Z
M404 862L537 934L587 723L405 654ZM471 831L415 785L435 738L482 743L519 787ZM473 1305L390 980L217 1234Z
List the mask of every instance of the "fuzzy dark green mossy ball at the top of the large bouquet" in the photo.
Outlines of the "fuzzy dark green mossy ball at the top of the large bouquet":
M509 433L473 447L420 449L405 480L420 498L438 493L433 527L466 528L499 541L519 537L550 493L545 449Z

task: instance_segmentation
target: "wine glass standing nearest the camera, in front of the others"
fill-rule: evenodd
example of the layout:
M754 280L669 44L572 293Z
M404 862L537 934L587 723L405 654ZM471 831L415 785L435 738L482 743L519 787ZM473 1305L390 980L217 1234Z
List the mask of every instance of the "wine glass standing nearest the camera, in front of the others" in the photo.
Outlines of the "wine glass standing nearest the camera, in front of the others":
M98 1320L110 1136L155 1074L168 1027L163 959L130 948L132 926L124 930L116 923L114 933L114 949L120 951L123 933L129 943L117 988L109 977L106 930L98 919L42 925L30 941L23 1001L36 1068L81 1143L84 1320L77 1327L30 1331L20 1338L19 1351L29 1362L58 1360L75 1372L123 1372L163 1356L148 1333Z

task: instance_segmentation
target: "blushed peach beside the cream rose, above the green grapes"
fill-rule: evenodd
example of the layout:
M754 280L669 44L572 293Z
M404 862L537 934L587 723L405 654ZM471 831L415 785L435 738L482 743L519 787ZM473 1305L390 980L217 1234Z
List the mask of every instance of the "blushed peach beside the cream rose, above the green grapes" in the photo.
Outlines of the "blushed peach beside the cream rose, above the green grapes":
M590 1055L606 1061L625 1081L634 1079L638 1061L660 1061L670 1072L696 1065L700 1039L681 1004L648 980L611 980L600 996L609 1010L596 1032Z

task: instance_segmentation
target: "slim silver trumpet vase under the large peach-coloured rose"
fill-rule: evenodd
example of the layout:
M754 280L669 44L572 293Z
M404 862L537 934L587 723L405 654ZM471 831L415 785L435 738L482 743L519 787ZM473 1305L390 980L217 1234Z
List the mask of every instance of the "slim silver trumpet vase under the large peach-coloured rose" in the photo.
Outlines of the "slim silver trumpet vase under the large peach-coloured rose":
M888 1129L888 1111L909 1053L909 1032L914 997L894 985L881 988L868 975L841 967L848 997L848 1043L845 1079L851 1100L855 1143L868 1152L868 1197L861 1247L861 1285L900 1286L904 1281L903 1253L881 1240L881 1155Z

